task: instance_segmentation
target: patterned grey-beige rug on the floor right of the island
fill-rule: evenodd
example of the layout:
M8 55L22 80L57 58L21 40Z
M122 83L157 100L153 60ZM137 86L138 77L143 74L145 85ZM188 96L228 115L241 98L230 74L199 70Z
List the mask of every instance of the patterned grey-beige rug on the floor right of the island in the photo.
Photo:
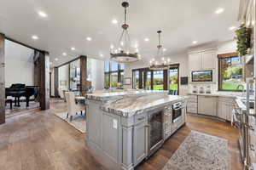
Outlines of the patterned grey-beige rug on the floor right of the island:
M163 170L229 170L228 140L192 131Z

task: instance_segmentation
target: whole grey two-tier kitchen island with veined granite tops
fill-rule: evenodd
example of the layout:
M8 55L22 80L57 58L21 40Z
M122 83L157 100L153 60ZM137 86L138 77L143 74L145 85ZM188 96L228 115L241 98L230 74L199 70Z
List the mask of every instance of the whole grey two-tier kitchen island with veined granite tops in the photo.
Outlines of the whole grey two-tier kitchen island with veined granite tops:
M86 94L86 144L109 169L131 170L185 123L186 99L167 91Z

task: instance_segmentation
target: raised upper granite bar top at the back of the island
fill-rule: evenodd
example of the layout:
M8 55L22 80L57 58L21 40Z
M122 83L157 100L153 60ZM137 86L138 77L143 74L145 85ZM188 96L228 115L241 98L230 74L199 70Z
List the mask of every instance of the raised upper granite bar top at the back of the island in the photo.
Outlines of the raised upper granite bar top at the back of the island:
M111 99L122 99L123 96L137 96L144 94L168 94L166 90L137 90L137 91L124 91L124 92L112 92L101 94L86 94L86 99L94 99L99 101L108 101Z

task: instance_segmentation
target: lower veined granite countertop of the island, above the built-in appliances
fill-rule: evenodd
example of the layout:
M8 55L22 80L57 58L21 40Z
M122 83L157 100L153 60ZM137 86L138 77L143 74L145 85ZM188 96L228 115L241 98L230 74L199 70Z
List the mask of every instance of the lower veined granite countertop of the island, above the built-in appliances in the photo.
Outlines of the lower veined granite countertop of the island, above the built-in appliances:
M154 108L165 107L177 101L182 101L186 97L152 94L144 96L125 96L123 99L113 101L106 105L102 105L101 109L120 116L134 116Z

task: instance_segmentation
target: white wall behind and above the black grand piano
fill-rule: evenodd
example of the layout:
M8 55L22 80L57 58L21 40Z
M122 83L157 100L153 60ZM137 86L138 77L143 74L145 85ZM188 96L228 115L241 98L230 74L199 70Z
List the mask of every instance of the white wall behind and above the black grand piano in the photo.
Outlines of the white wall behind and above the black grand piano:
M34 64L32 48L5 40L5 87L13 83L34 85Z

